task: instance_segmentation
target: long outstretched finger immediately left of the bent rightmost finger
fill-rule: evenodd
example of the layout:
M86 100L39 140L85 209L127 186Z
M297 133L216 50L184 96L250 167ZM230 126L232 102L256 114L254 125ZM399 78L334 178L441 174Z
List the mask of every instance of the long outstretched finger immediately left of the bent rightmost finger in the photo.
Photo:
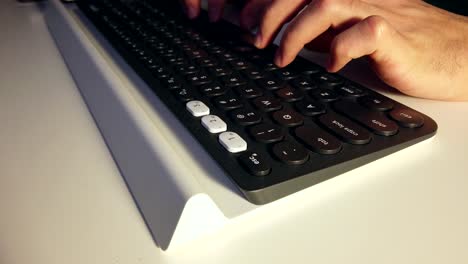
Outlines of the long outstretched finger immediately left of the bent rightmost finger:
M362 20L370 13L361 1L314 0L286 28L280 48L275 56L278 66L294 60L305 44L331 28L349 25L350 21Z

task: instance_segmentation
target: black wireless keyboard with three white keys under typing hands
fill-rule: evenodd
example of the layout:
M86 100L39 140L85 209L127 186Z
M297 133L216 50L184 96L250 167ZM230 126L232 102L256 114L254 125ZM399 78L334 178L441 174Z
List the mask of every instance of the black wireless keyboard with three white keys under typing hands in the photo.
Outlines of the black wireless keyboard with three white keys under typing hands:
M265 204L432 137L428 116L301 57L273 63L228 22L165 1L79 8L238 186ZM398 164L395 164L398 166Z

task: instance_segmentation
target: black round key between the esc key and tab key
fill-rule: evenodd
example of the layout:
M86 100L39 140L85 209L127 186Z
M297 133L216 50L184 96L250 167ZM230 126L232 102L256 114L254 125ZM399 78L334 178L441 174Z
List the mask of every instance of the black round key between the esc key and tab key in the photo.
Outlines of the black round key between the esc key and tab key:
M294 142L284 141L273 146L273 154L289 165L304 164L309 159L307 150Z

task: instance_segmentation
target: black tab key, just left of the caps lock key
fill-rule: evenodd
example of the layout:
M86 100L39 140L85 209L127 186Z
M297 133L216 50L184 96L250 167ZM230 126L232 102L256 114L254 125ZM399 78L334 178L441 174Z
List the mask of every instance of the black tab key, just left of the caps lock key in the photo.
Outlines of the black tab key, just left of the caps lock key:
M310 150L319 154L335 154L342 148L341 141L318 126L305 125L296 128L294 132Z

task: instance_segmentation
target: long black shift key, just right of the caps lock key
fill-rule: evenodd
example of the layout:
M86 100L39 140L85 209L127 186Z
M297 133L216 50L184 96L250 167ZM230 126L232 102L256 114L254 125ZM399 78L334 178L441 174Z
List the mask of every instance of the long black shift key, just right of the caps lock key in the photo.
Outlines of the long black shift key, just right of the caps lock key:
M380 112L369 111L357 103L337 102L333 105L343 115L361 123L381 136L392 136L398 132L398 125Z

